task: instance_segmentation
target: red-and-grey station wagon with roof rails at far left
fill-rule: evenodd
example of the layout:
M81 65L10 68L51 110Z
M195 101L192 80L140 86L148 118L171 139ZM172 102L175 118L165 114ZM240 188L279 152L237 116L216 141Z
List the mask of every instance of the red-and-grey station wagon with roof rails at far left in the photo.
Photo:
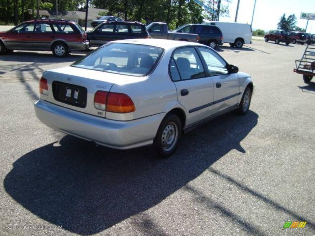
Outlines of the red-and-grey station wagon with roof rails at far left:
M0 32L0 54L13 50L39 50L64 57L71 50L88 48L85 31L69 20L30 20Z

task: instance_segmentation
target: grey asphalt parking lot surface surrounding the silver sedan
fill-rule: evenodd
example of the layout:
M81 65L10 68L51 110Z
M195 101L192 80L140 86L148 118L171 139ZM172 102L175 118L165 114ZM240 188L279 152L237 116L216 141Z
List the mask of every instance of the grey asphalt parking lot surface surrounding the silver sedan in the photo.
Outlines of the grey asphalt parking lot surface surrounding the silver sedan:
M84 53L1 55L0 234L315 235L315 81L293 73L304 50L219 48L254 79L250 111L186 134L166 160L150 147L95 147L37 120L42 72Z

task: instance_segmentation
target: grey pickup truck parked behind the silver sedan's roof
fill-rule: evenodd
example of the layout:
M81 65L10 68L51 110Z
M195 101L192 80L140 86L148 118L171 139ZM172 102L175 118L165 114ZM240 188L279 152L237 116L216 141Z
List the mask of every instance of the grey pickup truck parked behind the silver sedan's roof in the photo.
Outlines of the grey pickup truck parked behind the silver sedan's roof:
M146 26L146 29L152 38L171 39L189 42L199 41L198 34L169 32L167 24L163 22L152 22L150 25Z

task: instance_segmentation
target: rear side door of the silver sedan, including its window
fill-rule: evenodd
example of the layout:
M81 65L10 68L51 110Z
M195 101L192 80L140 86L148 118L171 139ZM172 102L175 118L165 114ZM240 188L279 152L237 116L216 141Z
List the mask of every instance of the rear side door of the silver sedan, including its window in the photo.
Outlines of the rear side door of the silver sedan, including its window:
M213 82L194 47L175 49L170 75L177 90L177 100L187 111L186 126L211 115L214 99Z

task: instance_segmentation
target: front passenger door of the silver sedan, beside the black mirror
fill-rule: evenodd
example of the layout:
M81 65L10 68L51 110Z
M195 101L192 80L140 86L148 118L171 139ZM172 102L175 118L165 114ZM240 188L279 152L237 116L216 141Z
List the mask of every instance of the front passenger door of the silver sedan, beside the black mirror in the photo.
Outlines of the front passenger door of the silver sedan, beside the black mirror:
M240 95L239 78L236 73L228 73L226 61L209 48L198 47L207 65L208 75L214 83L212 114L224 111L238 104Z

